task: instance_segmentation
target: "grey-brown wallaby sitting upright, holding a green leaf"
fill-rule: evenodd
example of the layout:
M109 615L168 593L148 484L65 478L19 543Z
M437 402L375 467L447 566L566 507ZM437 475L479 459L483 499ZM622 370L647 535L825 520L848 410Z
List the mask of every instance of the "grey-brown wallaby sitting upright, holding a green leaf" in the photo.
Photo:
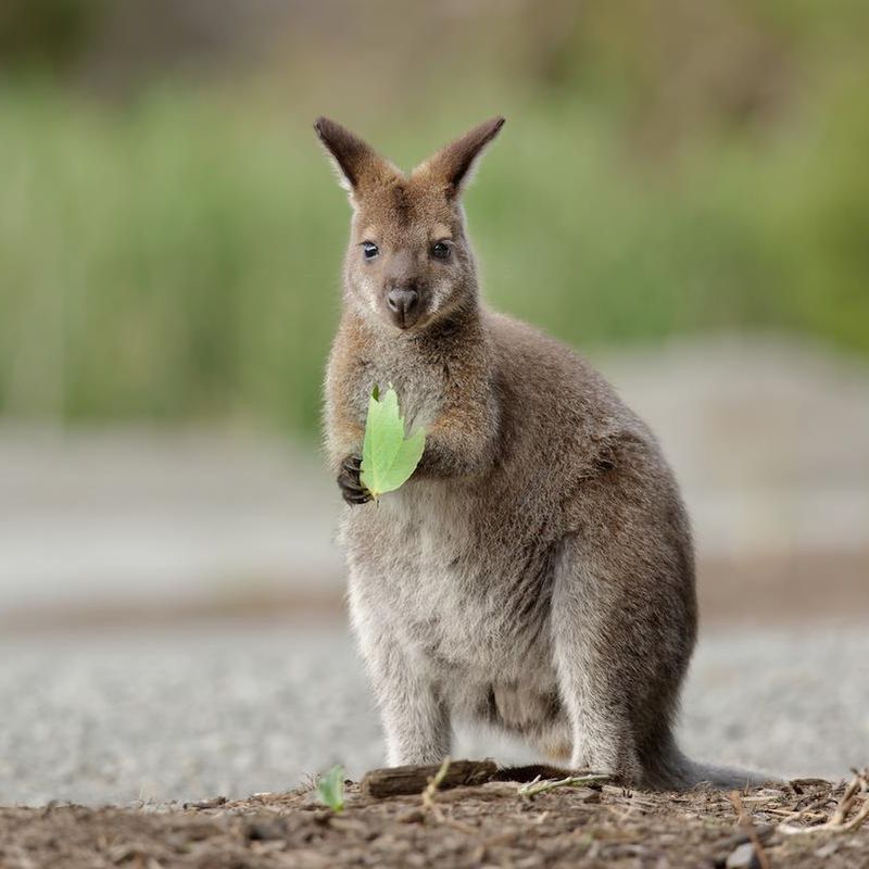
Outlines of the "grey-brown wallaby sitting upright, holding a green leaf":
M462 192L503 124L410 175L315 124L353 209L326 443L388 763L440 763L465 720L625 784L744 785L673 740L694 556L654 436L572 350L480 301ZM371 390L389 383L426 446L375 504L360 454Z

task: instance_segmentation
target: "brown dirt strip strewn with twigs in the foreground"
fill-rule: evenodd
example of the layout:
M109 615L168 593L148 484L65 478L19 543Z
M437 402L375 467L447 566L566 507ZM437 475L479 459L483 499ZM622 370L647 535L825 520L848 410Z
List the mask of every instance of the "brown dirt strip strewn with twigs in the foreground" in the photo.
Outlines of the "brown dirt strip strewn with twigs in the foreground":
M311 786L184 806L0 808L0 867L869 867L866 777L730 794L519 788L375 798L348 784L338 814Z

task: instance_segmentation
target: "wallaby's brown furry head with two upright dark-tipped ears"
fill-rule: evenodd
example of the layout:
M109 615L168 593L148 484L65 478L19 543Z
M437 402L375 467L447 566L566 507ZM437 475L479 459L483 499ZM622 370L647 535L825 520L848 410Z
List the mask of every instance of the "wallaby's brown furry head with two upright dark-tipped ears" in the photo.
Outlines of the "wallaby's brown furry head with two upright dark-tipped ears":
M419 330L476 301L462 191L503 124L480 124L405 175L340 124L316 122L350 193L345 293L365 316Z

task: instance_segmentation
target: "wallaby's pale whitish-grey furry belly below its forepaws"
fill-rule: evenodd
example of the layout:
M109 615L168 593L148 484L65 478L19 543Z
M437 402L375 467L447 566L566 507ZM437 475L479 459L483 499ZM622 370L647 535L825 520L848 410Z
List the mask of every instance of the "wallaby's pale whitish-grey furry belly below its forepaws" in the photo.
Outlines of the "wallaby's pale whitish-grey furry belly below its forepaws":
M494 691L521 718L555 691L551 564L530 540L490 534L479 506L473 492L419 481L348 512L351 602L457 706L484 717Z

